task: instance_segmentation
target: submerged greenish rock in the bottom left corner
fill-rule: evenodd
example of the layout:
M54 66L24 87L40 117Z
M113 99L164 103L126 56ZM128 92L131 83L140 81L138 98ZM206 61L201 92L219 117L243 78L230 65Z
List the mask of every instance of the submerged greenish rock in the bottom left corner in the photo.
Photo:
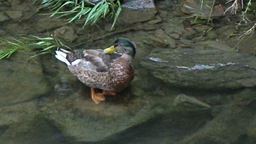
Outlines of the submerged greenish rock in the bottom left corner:
M38 117L37 101L0 108L0 143L59 143L63 135Z

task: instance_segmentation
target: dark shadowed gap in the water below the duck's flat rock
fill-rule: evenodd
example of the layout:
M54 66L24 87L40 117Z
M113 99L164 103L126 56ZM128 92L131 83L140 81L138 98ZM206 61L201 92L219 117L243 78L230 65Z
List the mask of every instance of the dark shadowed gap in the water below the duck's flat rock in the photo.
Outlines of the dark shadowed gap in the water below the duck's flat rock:
M202 113L201 113L202 112ZM178 143L182 138L200 129L211 116L201 112L172 113L158 116L145 123L117 133L105 141L79 144L116 143Z

